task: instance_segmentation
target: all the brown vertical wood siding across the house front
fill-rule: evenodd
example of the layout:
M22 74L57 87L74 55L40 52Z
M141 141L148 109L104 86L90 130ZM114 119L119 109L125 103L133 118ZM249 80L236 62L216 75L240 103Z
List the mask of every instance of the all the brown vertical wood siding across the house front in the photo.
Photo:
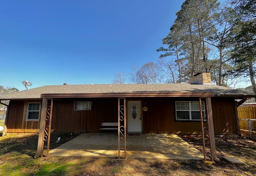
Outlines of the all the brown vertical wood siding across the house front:
M198 101L198 98L132 98L141 100L143 133L200 134L200 121L176 121L175 101ZM75 101L92 101L92 110L74 110ZM8 132L38 132L40 121L27 121L28 103L10 101L6 126ZM41 103L41 102L40 102ZM42 104L41 104L42 106ZM237 120L232 98L212 98L215 134L237 134ZM99 133L102 122L118 122L117 98L60 99L53 101L52 132ZM205 124L206 125L206 124Z

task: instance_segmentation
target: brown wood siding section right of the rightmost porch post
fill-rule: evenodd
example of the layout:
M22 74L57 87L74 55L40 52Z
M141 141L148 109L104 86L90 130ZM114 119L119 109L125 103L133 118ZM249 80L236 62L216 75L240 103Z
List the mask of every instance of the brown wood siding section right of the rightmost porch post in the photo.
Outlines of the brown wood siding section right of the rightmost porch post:
M212 98L212 114L215 134L237 134L233 98Z

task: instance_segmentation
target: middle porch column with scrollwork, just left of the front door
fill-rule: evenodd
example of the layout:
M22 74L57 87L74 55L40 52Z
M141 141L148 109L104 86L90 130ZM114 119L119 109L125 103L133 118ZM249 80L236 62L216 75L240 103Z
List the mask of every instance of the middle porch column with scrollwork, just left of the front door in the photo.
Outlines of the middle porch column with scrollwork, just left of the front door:
M126 160L126 101L118 98L118 159Z

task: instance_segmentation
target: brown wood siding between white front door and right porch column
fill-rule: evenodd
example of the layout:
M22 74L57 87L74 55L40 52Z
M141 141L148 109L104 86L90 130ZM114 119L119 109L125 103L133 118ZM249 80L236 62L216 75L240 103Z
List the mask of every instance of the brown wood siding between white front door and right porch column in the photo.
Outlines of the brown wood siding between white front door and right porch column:
M143 106L148 111L143 111L144 133L201 133L200 121L176 121L174 98L146 98ZM196 99L199 101L198 99ZM178 101L195 101L194 99L179 99Z

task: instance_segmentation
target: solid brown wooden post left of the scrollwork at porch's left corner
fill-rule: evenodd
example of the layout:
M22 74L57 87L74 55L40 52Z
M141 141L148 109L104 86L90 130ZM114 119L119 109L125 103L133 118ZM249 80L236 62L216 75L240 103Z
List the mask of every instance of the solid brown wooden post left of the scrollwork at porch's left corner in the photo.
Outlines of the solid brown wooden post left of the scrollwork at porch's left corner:
M37 144L37 152L34 158L38 158L43 153L44 147L44 127L45 127L45 120L44 117L46 116L46 98L43 98L42 101L42 108L41 108L41 115L40 115L40 127L39 127L39 135L38 135L38 144Z

